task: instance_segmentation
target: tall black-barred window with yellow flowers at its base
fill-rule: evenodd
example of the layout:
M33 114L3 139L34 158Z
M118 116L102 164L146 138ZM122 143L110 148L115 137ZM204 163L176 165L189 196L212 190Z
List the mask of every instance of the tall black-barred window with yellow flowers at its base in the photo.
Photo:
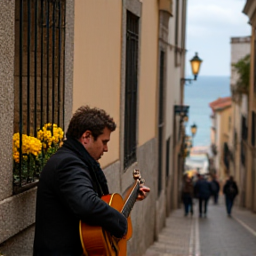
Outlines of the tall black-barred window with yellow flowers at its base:
M14 187L37 179L55 141L52 133L58 137L56 126L64 129L65 9L65 0L15 2ZM39 142L43 126L52 136Z

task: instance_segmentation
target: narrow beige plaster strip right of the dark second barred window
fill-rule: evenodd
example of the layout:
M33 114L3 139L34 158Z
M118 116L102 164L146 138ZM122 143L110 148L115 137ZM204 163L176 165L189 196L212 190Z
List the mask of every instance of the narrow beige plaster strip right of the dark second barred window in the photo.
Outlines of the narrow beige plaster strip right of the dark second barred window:
M140 40L139 146L156 136L156 88L158 67L158 7L143 1Z

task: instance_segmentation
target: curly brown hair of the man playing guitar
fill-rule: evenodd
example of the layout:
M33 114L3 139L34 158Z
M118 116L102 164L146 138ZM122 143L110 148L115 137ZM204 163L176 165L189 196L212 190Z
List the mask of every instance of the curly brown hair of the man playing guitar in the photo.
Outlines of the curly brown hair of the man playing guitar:
M105 110L82 106L72 116L68 125L67 135L80 139L85 131L91 131L94 140L97 140L98 136L103 133L105 127L111 132L116 130L116 123Z

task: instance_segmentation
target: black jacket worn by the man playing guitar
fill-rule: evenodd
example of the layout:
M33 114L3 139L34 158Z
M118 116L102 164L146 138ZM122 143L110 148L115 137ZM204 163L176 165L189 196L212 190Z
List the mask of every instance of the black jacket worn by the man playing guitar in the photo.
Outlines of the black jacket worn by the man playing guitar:
M127 220L100 199L103 194L108 185L100 165L78 140L68 138L40 176L34 255L80 256L79 220L124 236Z

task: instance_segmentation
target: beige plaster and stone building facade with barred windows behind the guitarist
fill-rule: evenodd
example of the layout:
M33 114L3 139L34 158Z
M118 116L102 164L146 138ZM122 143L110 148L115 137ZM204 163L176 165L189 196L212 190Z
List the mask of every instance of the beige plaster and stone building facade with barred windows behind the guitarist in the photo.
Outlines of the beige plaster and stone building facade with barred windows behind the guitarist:
M28 157L18 154L18 165L13 160L13 134L23 143L22 134L36 136L48 123L66 132L72 113L85 104L106 109L117 124L100 160L109 190L122 194L134 168L151 188L132 210L127 255L142 255L157 239L179 207L182 122L174 105L183 104L186 7L186 0L1 1L4 255L32 255L40 174L28 163L27 178L20 179L19 164Z

